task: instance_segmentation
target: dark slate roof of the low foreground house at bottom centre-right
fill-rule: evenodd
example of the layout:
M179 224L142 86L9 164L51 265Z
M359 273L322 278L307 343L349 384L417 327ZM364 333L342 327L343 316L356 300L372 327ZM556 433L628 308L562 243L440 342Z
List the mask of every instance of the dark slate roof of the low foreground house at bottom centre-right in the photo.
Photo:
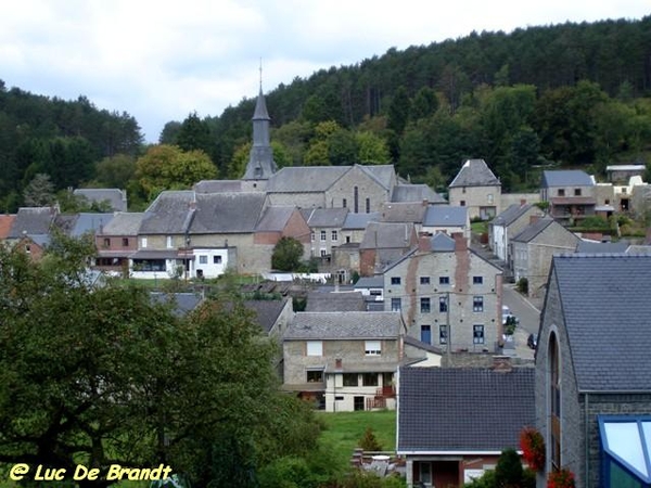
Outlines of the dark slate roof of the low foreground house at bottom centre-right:
M400 368L398 452L520 449L535 424L534 369Z

